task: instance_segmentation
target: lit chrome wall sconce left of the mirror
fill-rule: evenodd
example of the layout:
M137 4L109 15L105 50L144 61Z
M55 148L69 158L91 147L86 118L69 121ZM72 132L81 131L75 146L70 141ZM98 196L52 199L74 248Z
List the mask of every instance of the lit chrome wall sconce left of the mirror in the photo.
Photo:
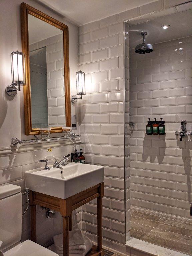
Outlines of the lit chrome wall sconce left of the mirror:
M12 84L5 89L9 96L14 97L20 86L25 84L25 55L16 51L11 53L11 77ZM16 87L18 85L18 88Z

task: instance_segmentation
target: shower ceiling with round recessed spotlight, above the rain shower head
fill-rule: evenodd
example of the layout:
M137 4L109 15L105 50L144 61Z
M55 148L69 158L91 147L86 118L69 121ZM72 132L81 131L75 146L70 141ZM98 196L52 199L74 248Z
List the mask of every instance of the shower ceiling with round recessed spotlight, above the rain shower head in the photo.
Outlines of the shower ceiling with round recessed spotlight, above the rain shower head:
M141 32L146 31L146 42L156 44L177 38L192 36L192 9L172 15L163 16L154 20L133 25L130 27L130 48L143 42ZM163 30L161 26L171 27Z

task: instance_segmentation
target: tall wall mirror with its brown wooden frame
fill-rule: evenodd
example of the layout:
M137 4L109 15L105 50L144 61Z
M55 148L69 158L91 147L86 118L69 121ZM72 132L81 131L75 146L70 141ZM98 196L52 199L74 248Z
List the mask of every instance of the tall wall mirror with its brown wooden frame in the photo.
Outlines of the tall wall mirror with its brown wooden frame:
M62 126L71 126L68 26L22 3L21 36L25 134L45 127L62 132Z

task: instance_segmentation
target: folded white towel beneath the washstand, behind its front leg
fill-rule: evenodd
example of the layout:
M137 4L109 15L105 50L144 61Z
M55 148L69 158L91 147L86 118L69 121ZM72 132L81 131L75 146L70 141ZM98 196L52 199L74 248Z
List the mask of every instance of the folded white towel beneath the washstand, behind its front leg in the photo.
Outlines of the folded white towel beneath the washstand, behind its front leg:
M63 252L63 234L53 237L57 251ZM86 250L84 237L80 229L69 231L69 250Z

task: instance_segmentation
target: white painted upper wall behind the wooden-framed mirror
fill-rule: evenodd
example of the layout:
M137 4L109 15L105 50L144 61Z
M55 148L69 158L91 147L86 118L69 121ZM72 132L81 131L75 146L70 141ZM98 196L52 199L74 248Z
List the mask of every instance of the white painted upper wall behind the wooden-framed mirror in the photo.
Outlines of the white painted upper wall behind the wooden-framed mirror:
M22 2L22 0L2 0L0 3L0 148L10 147L12 137L27 138L24 135L23 88L14 98L5 93L6 86L11 84L10 53L15 50L21 51L20 4ZM75 73L78 70L77 26L33 0L26 0L25 3L69 26L70 87L71 94L75 94ZM78 115L77 111L78 107L71 106L71 114ZM78 130L76 132L78 133Z

